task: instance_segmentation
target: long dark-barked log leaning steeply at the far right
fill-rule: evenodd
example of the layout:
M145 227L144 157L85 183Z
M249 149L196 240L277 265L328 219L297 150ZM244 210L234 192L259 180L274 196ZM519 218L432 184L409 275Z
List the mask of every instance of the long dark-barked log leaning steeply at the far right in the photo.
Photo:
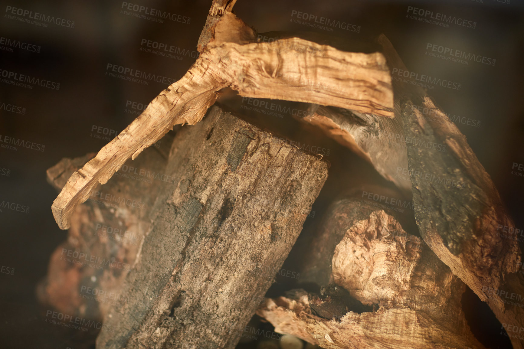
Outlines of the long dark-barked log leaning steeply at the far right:
M392 69L406 66L385 36L379 38ZM487 302L506 328L524 323L524 277L515 224L466 137L419 86L394 81L408 147L410 174L435 178L412 183L415 218L424 241L476 295ZM427 110L428 113L421 111ZM433 115L431 117L427 116ZM506 231L512 231L515 236ZM512 336L514 348L524 348Z

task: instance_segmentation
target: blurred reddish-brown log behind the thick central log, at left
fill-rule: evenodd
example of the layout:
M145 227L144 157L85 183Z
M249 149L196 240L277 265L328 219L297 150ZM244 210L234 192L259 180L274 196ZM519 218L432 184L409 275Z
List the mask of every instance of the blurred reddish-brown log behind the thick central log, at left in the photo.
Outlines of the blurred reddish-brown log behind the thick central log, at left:
M105 186L95 187L90 199L77 207L67 241L54 250L46 279L38 287L42 304L73 318L101 322L112 303L122 300L122 282L140 244L163 243L146 233L158 193L174 186L165 173L172 139L168 134L158 148L126 161L122 171ZM60 191L71 174L94 156L62 159L47 170L48 182Z

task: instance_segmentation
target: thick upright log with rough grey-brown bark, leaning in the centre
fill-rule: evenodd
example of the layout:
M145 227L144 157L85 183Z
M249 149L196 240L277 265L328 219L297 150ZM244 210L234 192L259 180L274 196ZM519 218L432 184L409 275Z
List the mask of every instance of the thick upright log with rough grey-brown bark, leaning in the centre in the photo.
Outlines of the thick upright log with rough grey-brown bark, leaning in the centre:
M195 141L196 140L196 141ZM128 302L105 318L101 348L218 348L238 342L301 231L328 165L219 108L174 140L174 189L155 204L126 279Z

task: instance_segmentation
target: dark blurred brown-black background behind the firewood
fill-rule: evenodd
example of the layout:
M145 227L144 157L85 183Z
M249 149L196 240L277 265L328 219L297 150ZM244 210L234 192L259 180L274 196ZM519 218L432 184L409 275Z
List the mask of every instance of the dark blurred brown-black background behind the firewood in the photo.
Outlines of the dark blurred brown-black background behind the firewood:
M10 170L5 176L0 169L0 202L30 206L27 214L8 209L0 212L0 265L15 269L14 275L0 274L2 348L65 349L82 340L78 336L71 339L57 329L59 326L44 323L36 299L36 285L46 275L49 256L67 234L59 230L51 214L57 193L46 182L46 169L63 157L100 150L107 141L91 137L93 125L120 132L137 116L126 111L126 101L148 103L167 87L108 77L108 63L178 80L195 59L146 53L140 51L140 42L150 39L195 51L211 5L211 1L203 0L129 2L191 17L191 23L165 20L160 24L121 14L120 1L0 2L0 36L41 47L40 52L0 50L0 69L60 83L57 91L0 82L0 104L25 108L25 114L0 108L0 135L45 145L43 152L0 148L0 168ZM6 6L74 20L75 26L48 24L45 28L22 23L5 16ZM408 6L471 19L477 25L475 29L456 25L443 28L422 23L406 18ZM361 26L359 33L318 29L323 34L366 41L384 33L409 70L462 83L461 91L436 86L429 93L445 112L481 121L480 127L457 126L492 176L517 227L524 227L520 214L524 209L524 178L511 174L512 163L524 163L521 0L511 0L510 4L495 0L238 0L234 9L259 32L317 30L290 21L292 10L298 10ZM424 54L428 42L495 58L496 64L470 62L466 66L429 57ZM340 156L330 161L348 160ZM507 337L499 334L485 305L472 300L471 307L480 314L474 319L475 331L485 337L486 345L507 347Z

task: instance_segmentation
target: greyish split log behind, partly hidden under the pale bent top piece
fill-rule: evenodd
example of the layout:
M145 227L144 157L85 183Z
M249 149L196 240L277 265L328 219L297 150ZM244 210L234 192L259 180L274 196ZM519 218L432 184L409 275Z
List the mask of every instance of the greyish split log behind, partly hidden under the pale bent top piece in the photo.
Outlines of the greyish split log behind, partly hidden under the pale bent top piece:
M383 50L378 42L359 42L315 32L271 31L261 35L274 40L297 36L351 52L370 53ZM398 99L396 101L398 116ZM300 115L296 118L315 126L339 144L350 148L371 163L384 178L395 183L403 194L411 195L411 180L400 175L402 169L408 167L406 144L399 141L405 139L400 118L384 118L374 113L328 106L325 103L310 104L307 111L307 116Z

